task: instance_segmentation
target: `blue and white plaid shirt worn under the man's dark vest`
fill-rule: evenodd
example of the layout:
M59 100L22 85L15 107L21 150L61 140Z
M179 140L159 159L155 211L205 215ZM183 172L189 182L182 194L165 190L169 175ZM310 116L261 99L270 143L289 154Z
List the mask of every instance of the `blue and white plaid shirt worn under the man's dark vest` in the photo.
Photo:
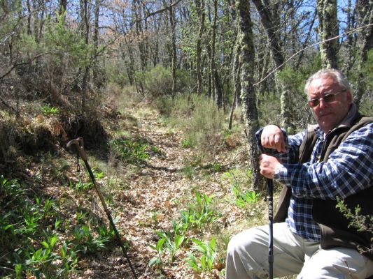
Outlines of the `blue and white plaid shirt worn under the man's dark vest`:
M258 142L261 132L262 129L256 133ZM312 217L313 198L344 199L372 186L373 174L373 123L351 133L330 154L326 163L318 160L324 142L320 128L316 128L316 135L318 140L311 158L304 164L295 162L305 131L286 137L289 146L286 153L265 149L265 153L276 156L283 163L283 167L276 169L274 179L292 188L286 223L292 232L311 241L321 238L321 229Z

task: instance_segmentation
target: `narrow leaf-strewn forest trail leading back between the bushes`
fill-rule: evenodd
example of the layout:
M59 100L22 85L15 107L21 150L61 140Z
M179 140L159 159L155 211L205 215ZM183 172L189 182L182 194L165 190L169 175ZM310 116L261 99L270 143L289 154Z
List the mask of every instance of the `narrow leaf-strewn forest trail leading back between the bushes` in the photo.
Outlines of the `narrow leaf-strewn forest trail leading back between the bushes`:
M136 109L131 114L139 115ZM134 172L123 169L125 176L121 176L120 183L124 186L111 192L118 205L111 209L113 216L119 218L116 226L123 239L129 242L128 254L138 278L195 278L183 261L186 257L183 250L178 254L177 266L165 267L162 273L148 267L149 260L157 255L150 245L157 243L156 231L171 229L171 220L178 219L186 201L193 199L192 188L221 197L226 193L218 193L218 183L209 178L185 177L185 162L192 160L198 151L181 145L181 131L165 127L156 112L136 116L136 123L132 133L145 138L158 152L150 154L146 163ZM77 278L133 278L119 247L102 254L100 259L87 260L85 264L78 267L83 274Z

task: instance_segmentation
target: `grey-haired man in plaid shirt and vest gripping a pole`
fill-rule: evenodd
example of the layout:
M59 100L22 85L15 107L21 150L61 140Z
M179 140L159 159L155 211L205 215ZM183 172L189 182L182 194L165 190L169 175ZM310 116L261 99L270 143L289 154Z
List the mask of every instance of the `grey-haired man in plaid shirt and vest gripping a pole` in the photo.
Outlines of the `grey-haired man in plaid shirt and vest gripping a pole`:
M274 217L274 277L368 278L373 232L359 232L337 209L373 216L373 119L361 116L339 70L319 70L304 89L317 126L287 136L278 126L258 130L260 173L284 185ZM368 220L369 221L369 220ZM267 278L268 225L234 236L227 279Z

